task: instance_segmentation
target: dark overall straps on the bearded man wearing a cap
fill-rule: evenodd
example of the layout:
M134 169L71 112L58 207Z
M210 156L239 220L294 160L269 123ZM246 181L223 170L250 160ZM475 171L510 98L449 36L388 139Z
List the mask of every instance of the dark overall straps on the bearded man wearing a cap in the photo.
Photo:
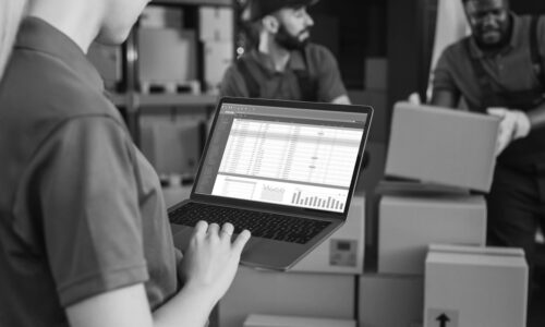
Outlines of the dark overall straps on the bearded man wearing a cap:
M305 66L308 68L308 63L306 60L306 52L303 50L301 53ZM239 68L239 71L242 74L242 77L244 78L244 83L246 84L246 88L249 92L249 97L251 98L261 98L261 87L259 83L257 80L254 77L252 74L250 68L247 66L247 63L243 59L239 59L235 62L237 66ZM318 100L318 84L316 78L312 78L311 74L308 73L308 69L306 70L294 70L295 76L298 78L298 84L299 88L301 89L301 101L317 101ZM266 73L266 72L264 72ZM274 99L281 99L277 95L272 95Z

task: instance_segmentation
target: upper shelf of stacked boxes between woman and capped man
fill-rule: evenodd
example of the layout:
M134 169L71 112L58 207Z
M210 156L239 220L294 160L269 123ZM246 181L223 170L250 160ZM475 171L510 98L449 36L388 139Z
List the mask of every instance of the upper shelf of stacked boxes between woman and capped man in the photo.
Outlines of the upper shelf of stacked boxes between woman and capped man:
M89 55L137 145L144 107L175 108L177 114L198 108L208 119L223 70L234 60L234 4L152 1L122 47L97 46Z

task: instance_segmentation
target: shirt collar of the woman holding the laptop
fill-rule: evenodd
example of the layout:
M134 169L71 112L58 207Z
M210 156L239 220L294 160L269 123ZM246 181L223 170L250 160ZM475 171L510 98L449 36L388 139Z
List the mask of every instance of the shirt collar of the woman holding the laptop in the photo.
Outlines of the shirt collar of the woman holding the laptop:
M66 35L38 17L25 17L21 23L15 48L32 49L56 57L89 86L104 92L104 82L82 49Z

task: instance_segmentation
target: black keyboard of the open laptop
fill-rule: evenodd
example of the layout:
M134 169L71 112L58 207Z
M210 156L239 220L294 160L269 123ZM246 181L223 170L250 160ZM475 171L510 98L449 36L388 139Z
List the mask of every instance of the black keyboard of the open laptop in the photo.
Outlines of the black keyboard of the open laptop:
M194 227L197 221L216 222L219 226L231 222L234 233L244 229L252 237L305 244L323 231L329 221L313 220L278 214L259 213L239 208L209 206L189 203L169 213L170 222Z

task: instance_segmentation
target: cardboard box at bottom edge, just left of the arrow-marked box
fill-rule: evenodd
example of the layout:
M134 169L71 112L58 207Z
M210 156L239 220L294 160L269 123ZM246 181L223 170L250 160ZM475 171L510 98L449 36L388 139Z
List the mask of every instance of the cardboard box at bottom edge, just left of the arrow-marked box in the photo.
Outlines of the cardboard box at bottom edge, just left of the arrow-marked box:
M359 292L360 327L412 327L423 322L422 277L363 275Z

